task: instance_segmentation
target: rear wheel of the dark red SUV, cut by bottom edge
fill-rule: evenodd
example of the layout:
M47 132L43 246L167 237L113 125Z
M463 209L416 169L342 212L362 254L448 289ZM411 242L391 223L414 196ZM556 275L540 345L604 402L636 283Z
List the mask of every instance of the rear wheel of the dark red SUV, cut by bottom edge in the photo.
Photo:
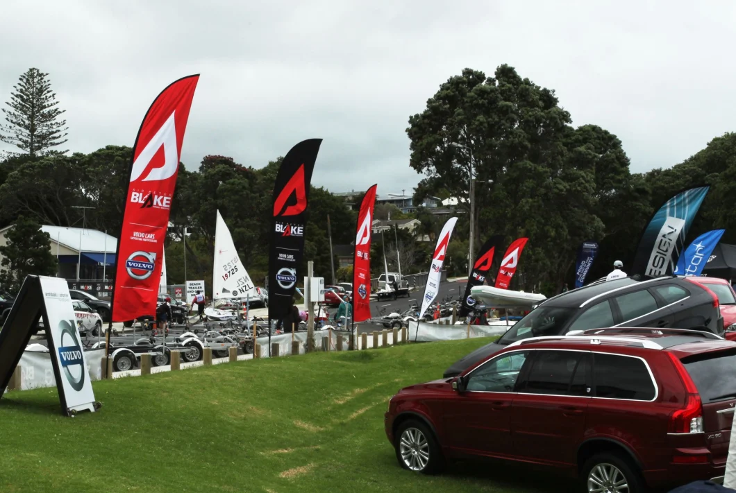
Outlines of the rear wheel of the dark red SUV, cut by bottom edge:
M598 453L587 461L582 469L580 476L581 492L594 492L609 485L606 480L601 477L611 478L612 484L626 481L628 489L623 490L628 493L642 493L645 491L644 481L640 472L632 463L631 459L626 458L623 454L618 453ZM620 478L620 479L618 479ZM601 486L596 486L601 484Z

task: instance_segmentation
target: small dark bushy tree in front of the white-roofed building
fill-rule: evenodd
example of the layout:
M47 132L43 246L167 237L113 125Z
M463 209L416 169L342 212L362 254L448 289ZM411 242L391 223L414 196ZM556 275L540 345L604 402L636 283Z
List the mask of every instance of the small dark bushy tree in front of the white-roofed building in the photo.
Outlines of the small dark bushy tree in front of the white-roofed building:
M54 276L57 260L51 253L51 237L35 220L19 216L0 246L0 289L15 295L26 276Z

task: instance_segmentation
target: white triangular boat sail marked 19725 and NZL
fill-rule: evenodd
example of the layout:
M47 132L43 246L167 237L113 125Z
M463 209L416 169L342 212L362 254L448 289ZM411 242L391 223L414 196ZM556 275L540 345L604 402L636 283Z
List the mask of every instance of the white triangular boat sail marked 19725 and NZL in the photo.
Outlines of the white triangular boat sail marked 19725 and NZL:
M215 265L212 270L213 300L254 297L255 287L240 261L233 237L217 211L215 226Z

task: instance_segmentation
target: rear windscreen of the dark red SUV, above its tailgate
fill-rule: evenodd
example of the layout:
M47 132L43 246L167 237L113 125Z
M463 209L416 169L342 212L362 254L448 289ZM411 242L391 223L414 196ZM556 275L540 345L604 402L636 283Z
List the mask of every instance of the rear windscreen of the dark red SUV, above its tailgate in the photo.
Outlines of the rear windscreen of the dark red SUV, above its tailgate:
M682 359L704 403L732 399L736 395L736 373L723 371L736 365L736 351L705 353Z

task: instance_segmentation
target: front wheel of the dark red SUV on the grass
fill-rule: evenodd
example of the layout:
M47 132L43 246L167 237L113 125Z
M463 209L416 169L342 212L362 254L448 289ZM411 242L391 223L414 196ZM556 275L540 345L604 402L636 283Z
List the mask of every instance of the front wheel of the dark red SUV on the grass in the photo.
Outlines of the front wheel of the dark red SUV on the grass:
M399 425L394 435L394 450L399 465L404 469L436 474L445 465L442 448L434 433L419 420L406 420Z

